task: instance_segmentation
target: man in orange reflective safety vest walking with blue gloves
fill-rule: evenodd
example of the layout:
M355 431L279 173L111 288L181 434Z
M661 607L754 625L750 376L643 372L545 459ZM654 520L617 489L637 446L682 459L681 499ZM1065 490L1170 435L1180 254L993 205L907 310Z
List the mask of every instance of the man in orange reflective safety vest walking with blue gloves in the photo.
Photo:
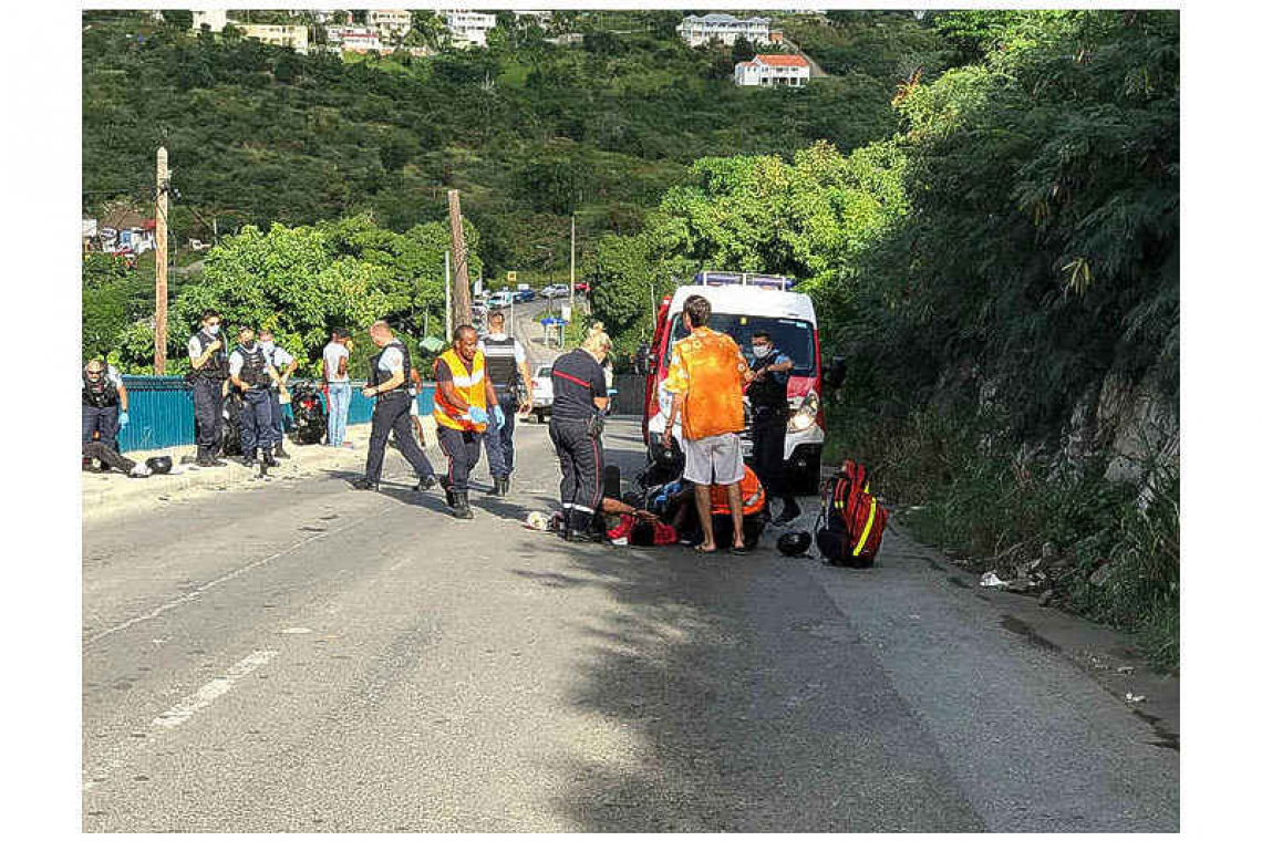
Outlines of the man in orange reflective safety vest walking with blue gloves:
M438 382L434 391L438 446L447 456L447 475L438 482L456 517L472 519L468 479L482 451L488 412L504 424L495 385L486 373L486 359L477 349L477 330L468 324L456 329L452 347L434 362L434 380Z

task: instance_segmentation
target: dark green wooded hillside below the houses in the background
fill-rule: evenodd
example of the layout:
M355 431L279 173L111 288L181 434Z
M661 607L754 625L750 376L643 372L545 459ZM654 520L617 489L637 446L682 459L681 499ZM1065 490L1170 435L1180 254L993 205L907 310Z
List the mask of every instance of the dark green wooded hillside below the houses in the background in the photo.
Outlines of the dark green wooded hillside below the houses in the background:
M559 13L557 28L586 40L558 47L502 15L485 50L343 62L85 13L86 209L115 194L143 207L163 142L180 241L209 238L213 222L223 232L361 211L403 232L443 218L454 187L500 275L563 264L536 246L564 240L570 211L582 251L637 229L697 158L825 139L849 150L893 130L892 87L741 90L731 50L685 47L680 16Z

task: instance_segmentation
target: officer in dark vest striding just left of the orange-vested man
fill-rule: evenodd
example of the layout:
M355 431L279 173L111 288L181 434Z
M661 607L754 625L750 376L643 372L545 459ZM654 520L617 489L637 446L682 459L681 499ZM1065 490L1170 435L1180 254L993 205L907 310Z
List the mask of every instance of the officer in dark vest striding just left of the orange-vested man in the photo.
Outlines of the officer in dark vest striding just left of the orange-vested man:
M411 382L411 358L408 347L395 338L390 325L385 322L376 322L369 328L369 337L372 343L381 348L381 353L372 357L369 366L369 385L363 387L365 397L376 397L372 406L372 432L369 438L369 464L365 475L351 483L356 490L376 490L381 482L381 465L386 458L386 439L394 430L395 444L408 459L408 464L420 478L418 490L433 488L435 484L434 468L429 459L416 446L416 439L411 434L411 422L408 416L408 407L411 405L411 395L408 386Z

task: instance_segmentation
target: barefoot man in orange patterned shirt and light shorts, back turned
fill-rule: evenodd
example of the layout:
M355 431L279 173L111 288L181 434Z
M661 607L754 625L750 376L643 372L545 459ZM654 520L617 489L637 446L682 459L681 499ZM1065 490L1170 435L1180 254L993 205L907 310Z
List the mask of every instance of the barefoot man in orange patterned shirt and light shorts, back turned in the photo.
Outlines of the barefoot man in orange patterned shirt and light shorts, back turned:
M748 366L741 348L724 333L705 324L711 305L702 295L684 301L684 327L689 335L675 343L665 387L671 395L670 416L661 438L670 449L675 419L683 417L684 478L697 485L697 517L704 541L698 552L713 552L714 523L711 518L711 485L724 488L732 511L732 554L743 555L745 530L741 506L741 430L745 429L745 372Z

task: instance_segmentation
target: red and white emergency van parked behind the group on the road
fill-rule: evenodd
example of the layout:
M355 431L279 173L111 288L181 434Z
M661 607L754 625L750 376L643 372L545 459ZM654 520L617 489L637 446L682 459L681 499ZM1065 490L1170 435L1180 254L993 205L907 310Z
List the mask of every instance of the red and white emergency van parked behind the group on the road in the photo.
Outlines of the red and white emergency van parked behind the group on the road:
M688 334L683 320L684 301L692 295L704 295L711 303L708 327L731 335L741 345L747 361L753 361L751 339L756 330L767 330L776 348L793 359L794 367L789 376L791 415L785 435L786 472L800 477L809 485L818 483L819 458L824 449L819 330L814 304L806 295L790 291L793 285L793 279L779 275L703 271L690 284L679 286L661 299L645 378L642 432L650 460L659 461L664 455L661 434L670 412L670 395L664 383L670 371L671 348ZM741 445L748 458L753 450L748 401L745 419ZM676 421L674 455L666 458L681 458L678 449L681 435L683 430Z

